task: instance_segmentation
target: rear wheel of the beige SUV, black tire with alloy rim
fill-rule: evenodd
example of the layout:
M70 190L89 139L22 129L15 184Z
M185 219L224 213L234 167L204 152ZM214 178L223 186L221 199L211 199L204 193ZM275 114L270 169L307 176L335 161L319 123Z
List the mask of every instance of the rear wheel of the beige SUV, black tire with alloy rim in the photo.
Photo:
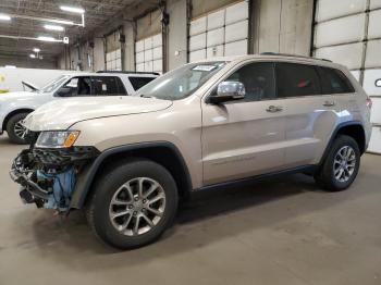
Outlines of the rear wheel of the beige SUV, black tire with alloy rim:
M347 152L345 152L347 150ZM347 153L346 162L342 158ZM317 184L329 191L347 189L355 181L360 166L360 150L356 140L340 135L332 144L322 165L315 174Z

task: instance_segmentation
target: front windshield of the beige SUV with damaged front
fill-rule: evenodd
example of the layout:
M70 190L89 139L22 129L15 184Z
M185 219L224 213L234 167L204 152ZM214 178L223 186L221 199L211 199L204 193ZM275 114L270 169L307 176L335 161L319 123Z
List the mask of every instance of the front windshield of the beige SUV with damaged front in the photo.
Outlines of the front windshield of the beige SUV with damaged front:
M135 96L180 100L201 87L226 62L190 63L171 71L142 87Z

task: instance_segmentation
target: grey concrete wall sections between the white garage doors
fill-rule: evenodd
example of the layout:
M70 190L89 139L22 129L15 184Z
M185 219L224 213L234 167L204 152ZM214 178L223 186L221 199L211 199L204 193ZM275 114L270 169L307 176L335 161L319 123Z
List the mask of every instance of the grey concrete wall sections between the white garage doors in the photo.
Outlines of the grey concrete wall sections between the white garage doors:
M167 0L167 12L170 23L167 28L165 59L168 70L175 69L187 62L188 21L187 15L200 16L208 11L217 10L223 5L232 4L235 0ZM192 13L187 9L192 9ZM250 39L249 53L266 51L309 55L311 47L311 27L314 14L314 0L250 0ZM87 39L77 47L70 47L70 61L66 59L67 69L83 71L105 70L105 44L102 37L115 29L123 27L125 42L121 45L123 52L123 69L135 71L135 41L161 33L161 14L156 10L135 23L128 21L114 21L109 30L99 32L94 38ZM135 25L135 30L134 30ZM136 33L135 33L136 32ZM94 48L88 42L94 42ZM93 66L88 64L87 53L91 52ZM64 52L58 59L58 67L65 66L69 57ZM81 60L79 60L81 59ZM69 64L67 64L69 63Z

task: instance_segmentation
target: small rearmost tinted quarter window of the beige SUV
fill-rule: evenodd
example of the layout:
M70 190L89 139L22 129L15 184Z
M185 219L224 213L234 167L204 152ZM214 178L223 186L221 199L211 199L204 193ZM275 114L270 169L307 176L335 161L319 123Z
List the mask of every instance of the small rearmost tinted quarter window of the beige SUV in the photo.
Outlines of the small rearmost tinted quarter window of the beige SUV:
M329 67L319 67L322 94L348 94L355 89L343 72Z

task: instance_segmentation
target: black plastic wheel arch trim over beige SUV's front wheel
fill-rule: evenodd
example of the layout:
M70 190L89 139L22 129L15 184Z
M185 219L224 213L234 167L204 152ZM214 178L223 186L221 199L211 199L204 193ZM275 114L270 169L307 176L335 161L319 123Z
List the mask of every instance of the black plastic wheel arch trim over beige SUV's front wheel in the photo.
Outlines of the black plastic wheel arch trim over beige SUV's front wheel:
M101 152L90 165L78 175L71 208L81 209L91 193L94 183L102 170L110 169L127 158L145 158L164 166L176 182L180 197L187 197L193 189L190 174L176 146L168 141L140 142L119 146Z

